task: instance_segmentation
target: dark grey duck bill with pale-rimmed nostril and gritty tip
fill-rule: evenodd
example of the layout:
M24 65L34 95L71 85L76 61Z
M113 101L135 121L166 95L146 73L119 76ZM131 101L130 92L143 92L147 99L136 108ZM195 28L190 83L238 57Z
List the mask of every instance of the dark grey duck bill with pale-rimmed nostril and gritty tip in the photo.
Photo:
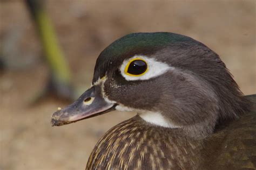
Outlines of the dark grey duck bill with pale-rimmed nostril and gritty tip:
M85 118L105 114L115 110L116 104L109 103L102 96L100 86L92 86L86 90L74 103L64 109L59 109L52 115L52 126L74 123Z

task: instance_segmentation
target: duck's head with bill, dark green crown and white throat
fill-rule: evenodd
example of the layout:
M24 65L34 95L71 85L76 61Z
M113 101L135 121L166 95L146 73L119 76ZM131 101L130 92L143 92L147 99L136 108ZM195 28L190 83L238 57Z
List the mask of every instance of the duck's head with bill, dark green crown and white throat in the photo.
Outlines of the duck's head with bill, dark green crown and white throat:
M92 87L55 112L52 125L116 109L136 111L152 125L208 134L247 107L218 54L201 42L175 33L133 33L100 53Z

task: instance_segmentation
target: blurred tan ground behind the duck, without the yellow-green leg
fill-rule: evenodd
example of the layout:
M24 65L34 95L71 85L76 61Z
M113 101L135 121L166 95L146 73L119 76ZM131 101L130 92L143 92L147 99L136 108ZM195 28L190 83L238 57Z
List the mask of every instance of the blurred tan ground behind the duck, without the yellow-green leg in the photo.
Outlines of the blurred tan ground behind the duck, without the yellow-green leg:
M112 41L156 31L203 42L220 55L244 94L256 93L254 0L65 0L45 1L43 8L68 63L62 70L70 72L72 97L90 86L97 56ZM63 101L61 95L41 94L59 88L47 86L55 66L45 57L35 23L25 1L0 1L0 169L84 169L98 139L134 113L111 112L52 127L52 113L72 97Z

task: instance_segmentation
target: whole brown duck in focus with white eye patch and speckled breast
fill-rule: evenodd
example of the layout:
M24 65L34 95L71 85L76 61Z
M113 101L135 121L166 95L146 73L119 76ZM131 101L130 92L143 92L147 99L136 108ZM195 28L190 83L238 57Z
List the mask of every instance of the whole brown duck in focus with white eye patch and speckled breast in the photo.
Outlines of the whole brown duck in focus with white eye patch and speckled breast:
M131 33L99 54L92 86L51 124L137 112L100 138L86 169L255 169L255 102L203 43Z

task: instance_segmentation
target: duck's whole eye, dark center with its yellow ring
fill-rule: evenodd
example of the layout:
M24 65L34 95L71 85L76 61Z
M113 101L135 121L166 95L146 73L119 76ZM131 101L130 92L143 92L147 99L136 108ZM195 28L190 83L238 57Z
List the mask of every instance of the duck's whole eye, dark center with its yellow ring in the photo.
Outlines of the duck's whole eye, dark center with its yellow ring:
M129 76L142 76L147 72L148 69L149 67L147 66L147 62L144 59L134 58L127 63L124 69L124 73Z

